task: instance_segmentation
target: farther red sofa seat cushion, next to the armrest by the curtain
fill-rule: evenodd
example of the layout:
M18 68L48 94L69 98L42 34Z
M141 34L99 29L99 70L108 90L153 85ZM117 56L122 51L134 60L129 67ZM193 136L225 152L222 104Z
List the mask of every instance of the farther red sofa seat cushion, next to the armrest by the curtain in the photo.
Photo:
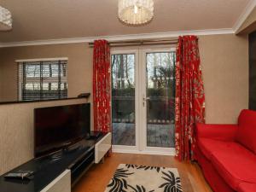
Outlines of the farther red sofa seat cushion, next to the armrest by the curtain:
M234 142L224 142L209 138L198 138L198 147L201 153L207 157L207 160L212 159L212 153L218 150L232 150L237 143Z

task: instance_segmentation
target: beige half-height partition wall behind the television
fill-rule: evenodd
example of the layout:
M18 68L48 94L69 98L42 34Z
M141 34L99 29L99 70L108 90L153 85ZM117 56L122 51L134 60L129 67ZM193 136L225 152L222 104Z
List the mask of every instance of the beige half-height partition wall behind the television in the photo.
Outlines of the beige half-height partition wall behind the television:
M86 99L0 105L0 175L33 158L33 109L77 104Z

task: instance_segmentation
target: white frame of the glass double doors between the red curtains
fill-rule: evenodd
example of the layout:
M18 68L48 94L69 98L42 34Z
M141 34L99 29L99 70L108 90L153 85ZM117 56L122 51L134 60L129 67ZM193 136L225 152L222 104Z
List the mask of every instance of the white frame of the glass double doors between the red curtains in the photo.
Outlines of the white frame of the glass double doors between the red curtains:
M167 52L175 48L137 48L111 49L111 55L135 54L135 146L113 145L113 152L131 154L162 154L175 155L175 148L158 148L147 146L147 102L143 106L143 96L146 96L146 54L148 52ZM140 139L139 139L140 138Z

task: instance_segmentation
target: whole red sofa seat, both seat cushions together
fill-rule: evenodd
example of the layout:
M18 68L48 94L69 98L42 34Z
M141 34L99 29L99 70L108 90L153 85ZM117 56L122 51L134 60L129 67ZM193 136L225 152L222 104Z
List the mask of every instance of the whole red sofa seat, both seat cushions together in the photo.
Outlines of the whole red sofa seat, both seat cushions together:
M256 155L241 144L198 138L198 147L232 189L240 183L256 183Z

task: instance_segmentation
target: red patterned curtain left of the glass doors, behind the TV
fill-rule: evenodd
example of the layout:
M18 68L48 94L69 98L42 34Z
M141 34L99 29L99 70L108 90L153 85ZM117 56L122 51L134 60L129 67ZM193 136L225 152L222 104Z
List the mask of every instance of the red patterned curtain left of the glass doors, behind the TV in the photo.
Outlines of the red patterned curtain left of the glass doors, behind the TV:
M109 45L106 40L96 40L94 42L93 53L93 110L95 131L111 131L110 91Z

